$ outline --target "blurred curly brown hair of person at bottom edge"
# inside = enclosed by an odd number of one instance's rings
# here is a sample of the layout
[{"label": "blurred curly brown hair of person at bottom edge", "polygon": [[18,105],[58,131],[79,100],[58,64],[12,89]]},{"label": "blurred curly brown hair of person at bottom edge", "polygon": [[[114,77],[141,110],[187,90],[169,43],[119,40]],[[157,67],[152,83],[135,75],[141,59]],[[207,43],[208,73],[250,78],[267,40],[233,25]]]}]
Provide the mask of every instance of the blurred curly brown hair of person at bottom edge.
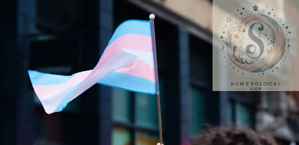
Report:
[{"label": "blurred curly brown hair of person at bottom edge", "polygon": [[271,136],[250,128],[218,126],[195,135],[191,145],[278,145]]}]

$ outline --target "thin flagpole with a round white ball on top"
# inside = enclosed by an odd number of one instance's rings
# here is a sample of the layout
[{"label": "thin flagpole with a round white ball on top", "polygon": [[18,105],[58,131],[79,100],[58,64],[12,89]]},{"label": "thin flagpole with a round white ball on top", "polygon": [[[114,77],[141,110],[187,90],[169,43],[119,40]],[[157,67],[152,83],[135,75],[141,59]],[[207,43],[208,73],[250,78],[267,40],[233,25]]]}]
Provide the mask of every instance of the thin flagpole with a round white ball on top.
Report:
[{"label": "thin flagpole with a round white ball on top", "polygon": [[154,19],[155,15],[150,14],[149,19],[151,20],[151,33],[152,33],[152,49],[154,56],[154,65],[155,65],[155,78],[156,78],[156,91],[157,91],[157,106],[158,106],[158,120],[159,120],[159,136],[160,144],[163,144],[162,138],[162,121],[161,121],[161,107],[160,107],[160,92],[159,92],[159,81],[158,81],[158,64],[157,64],[157,53],[156,53],[156,39],[155,39],[155,24]]}]

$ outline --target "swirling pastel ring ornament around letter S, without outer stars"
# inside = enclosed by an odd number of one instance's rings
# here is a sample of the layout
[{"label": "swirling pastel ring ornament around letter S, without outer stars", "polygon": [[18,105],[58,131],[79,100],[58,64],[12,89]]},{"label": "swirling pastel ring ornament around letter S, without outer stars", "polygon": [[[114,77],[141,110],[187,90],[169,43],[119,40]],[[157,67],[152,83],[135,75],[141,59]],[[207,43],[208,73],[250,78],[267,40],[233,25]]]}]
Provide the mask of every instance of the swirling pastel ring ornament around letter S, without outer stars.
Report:
[{"label": "swirling pastel ring ornament around letter S, without outer stars", "polygon": [[273,69],[288,45],[283,31],[285,28],[264,14],[251,13],[233,21],[227,25],[226,33],[222,32],[223,39],[220,37],[231,62],[251,73]]}]

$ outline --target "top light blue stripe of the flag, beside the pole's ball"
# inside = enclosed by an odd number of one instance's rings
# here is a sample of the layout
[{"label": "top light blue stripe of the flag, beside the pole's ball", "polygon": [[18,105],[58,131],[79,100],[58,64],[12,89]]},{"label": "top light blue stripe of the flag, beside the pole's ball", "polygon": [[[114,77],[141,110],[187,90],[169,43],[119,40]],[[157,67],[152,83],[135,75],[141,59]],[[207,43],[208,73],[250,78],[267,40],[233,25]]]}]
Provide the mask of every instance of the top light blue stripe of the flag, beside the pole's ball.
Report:
[{"label": "top light blue stripe of the flag, beside the pole's ball", "polygon": [[121,23],[113,33],[107,47],[120,36],[126,34],[140,34],[145,36],[152,36],[150,29],[150,21],[144,20],[127,20]]}]

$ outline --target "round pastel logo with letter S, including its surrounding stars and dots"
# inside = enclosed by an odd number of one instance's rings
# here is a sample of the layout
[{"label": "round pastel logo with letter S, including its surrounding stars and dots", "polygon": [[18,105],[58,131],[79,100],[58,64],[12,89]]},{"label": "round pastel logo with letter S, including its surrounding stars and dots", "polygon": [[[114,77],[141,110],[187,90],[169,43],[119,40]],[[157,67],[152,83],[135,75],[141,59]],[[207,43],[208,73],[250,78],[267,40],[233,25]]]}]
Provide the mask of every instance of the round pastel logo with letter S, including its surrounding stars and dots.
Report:
[{"label": "round pastel logo with letter S, including its surrounding stars and dots", "polygon": [[[219,31],[220,51],[230,68],[244,75],[263,76],[283,65],[292,33],[286,18],[262,5],[242,7],[227,16]],[[222,54],[222,52],[221,52]]]}]

